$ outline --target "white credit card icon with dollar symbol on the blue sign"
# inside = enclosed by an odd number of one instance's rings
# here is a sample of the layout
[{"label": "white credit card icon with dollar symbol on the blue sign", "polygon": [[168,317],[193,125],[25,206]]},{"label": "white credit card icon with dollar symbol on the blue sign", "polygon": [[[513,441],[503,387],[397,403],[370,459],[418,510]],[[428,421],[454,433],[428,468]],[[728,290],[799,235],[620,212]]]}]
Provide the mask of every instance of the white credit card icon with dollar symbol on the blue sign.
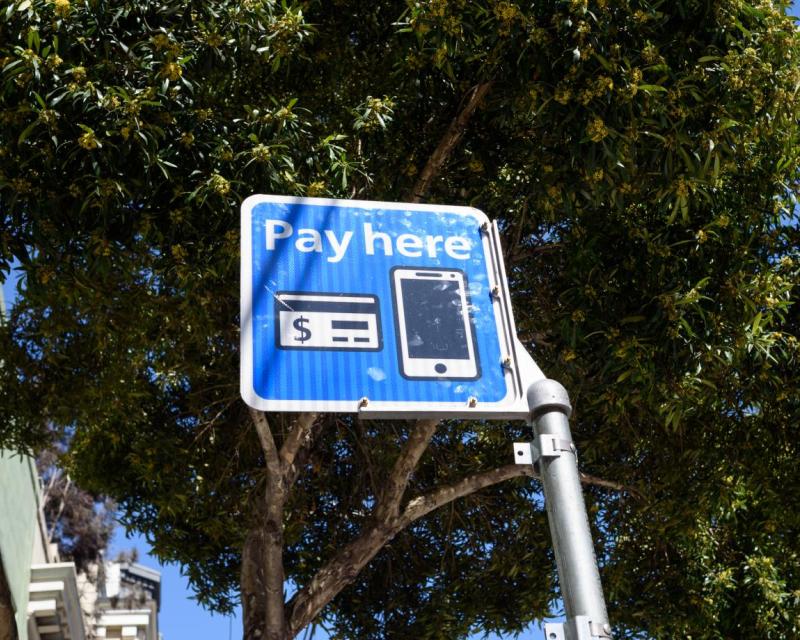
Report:
[{"label": "white credit card icon with dollar symbol on the blue sign", "polygon": [[377,296],[279,291],[275,294],[275,317],[275,344],[279,349],[383,349]]}]

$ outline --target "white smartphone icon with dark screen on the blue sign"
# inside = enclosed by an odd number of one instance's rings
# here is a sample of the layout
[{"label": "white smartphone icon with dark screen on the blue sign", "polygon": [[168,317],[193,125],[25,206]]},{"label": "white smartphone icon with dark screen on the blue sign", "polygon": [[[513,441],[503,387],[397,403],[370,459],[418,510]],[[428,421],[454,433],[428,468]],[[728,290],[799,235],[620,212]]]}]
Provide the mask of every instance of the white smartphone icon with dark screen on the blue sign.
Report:
[{"label": "white smartphone icon with dark screen on the blue sign", "polygon": [[480,377],[464,272],[394,267],[391,279],[400,373],[429,380]]}]

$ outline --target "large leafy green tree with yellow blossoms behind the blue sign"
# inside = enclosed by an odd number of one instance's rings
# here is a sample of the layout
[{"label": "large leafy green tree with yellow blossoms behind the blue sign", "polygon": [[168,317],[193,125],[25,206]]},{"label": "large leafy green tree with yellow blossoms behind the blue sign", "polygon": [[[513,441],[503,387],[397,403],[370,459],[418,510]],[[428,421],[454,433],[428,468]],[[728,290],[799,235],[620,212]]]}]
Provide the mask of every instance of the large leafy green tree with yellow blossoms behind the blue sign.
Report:
[{"label": "large leafy green tree with yellow blossoms behind the blue sign", "polygon": [[241,404],[256,191],[497,218],[523,342],[573,397],[617,636],[797,635],[785,4],[24,0],[0,43],[0,253],[26,274],[0,438],[68,429],[76,478],[201,602],[241,587],[245,637],[515,630],[557,594],[529,481],[411,521],[532,475],[505,466],[523,427]]}]

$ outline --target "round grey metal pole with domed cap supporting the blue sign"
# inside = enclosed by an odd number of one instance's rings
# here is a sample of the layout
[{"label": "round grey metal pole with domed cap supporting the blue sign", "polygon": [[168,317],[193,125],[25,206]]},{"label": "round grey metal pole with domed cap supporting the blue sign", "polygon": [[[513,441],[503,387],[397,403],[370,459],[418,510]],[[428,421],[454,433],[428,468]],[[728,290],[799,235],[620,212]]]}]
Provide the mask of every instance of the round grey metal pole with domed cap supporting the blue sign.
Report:
[{"label": "round grey metal pole with domed cap supporting the blue sign", "polygon": [[547,638],[611,638],[611,626],[583,502],[578,459],[566,389],[555,380],[540,380],[528,389],[547,519],[555,550],[567,622],[545,625]]}]

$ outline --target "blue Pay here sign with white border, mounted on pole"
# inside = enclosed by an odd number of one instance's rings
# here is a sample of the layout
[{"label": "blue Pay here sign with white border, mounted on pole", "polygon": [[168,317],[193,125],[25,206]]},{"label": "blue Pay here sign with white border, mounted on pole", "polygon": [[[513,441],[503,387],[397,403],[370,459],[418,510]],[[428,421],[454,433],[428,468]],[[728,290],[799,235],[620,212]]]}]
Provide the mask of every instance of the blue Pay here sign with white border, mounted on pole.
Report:
[{"label": "blue Pay here sign with white border, mounted on pole", "polygon": [[248,405],[527,414],[497,228],[477,209],[256,195],[241,253]]}]

